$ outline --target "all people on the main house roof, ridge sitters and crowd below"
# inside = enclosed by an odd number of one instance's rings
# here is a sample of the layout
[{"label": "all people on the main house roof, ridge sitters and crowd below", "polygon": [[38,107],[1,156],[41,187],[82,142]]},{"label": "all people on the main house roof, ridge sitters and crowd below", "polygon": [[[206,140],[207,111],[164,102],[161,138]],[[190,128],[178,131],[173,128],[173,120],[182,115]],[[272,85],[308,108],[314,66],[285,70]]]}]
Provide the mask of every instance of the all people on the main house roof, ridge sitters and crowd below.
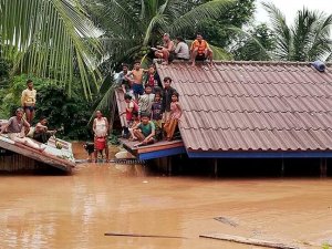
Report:
[{"label": "all people on the main house roof, ridge sitters and crowd below", "polygon": [[[190,48],[186,41],[177,37],[174,42],[168,33],[163,35],[163,45],[152,48],[154,55],[168,64],[174,60],[196,61],[209,60],[212,63],[212,50],[197,34]],[[170,86],[172,79],[164,77],[164,85],[156,72],[155,64],[142,69],[141,62],[135,62],[133,70],[123,64],[122,72],[117,74],[117,85],[124,92],[125,111],[120,115],[126,115],[127,125],[124,127],[124,136],[131,141],[138,141],[136,146],[153,144],[157,139],[172,141],[183,113],[179,104],[178,92]]]}]

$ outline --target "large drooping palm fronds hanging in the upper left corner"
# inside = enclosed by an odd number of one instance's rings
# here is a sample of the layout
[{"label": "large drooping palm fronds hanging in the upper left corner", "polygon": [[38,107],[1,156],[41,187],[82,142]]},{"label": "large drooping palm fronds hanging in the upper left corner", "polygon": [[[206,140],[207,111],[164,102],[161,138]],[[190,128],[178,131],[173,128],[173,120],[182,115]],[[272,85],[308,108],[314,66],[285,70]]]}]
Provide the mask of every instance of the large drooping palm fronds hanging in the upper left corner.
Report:
[{"label": "large drooping palm fronds hanging in the upper left corner", "polygon": [[93,23],[75,0],[0,0],[0,56],[13,71],[66,84],[81,77],[85,96],[97,87],[95,61],[102,50]]}]

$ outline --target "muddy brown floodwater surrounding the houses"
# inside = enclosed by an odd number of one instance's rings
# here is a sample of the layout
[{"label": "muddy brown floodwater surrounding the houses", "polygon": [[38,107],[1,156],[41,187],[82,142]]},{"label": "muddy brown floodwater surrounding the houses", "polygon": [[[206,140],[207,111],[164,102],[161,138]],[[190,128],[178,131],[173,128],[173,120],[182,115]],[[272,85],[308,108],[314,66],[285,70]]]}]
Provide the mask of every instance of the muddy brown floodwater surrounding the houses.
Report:
[{"label": "muddy brown floodwater surrounding the houses", "polygon": [[209,232],[320,248],[332,243],[331,190],[331,179],[165,177],[139,165],[0,176],[0,248],[260,248],[198,237]]}]

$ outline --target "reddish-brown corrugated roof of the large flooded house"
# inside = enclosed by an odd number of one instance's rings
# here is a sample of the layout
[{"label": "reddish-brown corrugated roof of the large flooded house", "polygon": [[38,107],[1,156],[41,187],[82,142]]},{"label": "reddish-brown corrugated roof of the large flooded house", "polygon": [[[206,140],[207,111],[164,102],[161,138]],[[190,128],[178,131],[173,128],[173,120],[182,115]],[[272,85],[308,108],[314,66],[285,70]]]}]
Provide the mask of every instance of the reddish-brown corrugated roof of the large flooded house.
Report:
[{"label": "reddish-brown corrugated roof of the large flooded house", "polygon": [[332,66],[310,63],[157,64],[180,95],[188,151],[331,151]]}]

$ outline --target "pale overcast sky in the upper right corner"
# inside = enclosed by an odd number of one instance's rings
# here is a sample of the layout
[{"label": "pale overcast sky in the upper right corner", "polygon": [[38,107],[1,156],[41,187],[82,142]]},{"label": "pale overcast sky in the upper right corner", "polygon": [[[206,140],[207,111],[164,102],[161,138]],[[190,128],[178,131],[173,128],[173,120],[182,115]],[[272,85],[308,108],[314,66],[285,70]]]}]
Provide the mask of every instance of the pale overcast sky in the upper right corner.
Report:
[{"label": "pale overcast sky in the upper right corner", "polygon": [[324,11],[326,14],[332,13],[332,0],[257,0],[256,20],[258,22],[269,21],[261,2],[272,2],[286,15],[288,24],[293,23],[297,11],[303,9],[303,6],[309,10]]}]

